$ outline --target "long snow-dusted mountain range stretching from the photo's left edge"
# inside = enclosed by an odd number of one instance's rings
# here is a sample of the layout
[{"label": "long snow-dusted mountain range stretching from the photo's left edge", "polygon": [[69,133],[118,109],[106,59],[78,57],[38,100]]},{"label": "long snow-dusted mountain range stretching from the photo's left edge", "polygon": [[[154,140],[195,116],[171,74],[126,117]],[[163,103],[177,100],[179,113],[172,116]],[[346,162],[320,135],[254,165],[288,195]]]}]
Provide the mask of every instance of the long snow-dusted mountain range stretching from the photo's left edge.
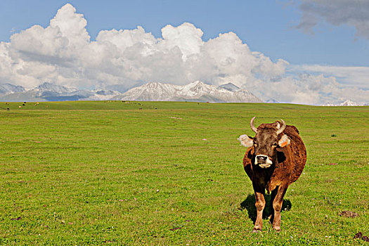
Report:
[{"label": "long snow-dusted mountain range stretching from the photo's left edge", "polygon": [[112,90],[79,90],[45,82],[32,89],[12,84],[0,85],[0,101],[196,101],[212,103],[261,103],[249,91],[232,83],[213,86],[197,81],[184,86],[148,83],[129,89],[125,93]]}]

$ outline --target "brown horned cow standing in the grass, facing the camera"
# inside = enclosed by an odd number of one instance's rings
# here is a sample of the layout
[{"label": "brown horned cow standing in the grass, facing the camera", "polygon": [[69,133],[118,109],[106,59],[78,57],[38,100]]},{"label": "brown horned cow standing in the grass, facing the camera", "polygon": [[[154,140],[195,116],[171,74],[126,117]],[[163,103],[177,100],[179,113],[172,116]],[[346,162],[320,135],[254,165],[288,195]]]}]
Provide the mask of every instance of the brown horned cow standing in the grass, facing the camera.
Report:
[{"label": "brown horned cow standing in the grass, facing the camera", "polygon": [[[286,125],[283,119],[271,124],[254,127],[253,117],[250,127],[254,138],[241,135],[238,140],[247,147],[243,167],[252,181],[255,193],[257,219],[253,233],[261,231],[262,215],[266,205],[265,190],[271,194],[271,223],[280,231],[280,210],[288,186],[302,174],[306,163],[306,148],[296,127]],[[272,207],[272,206],[271,206]]]}]

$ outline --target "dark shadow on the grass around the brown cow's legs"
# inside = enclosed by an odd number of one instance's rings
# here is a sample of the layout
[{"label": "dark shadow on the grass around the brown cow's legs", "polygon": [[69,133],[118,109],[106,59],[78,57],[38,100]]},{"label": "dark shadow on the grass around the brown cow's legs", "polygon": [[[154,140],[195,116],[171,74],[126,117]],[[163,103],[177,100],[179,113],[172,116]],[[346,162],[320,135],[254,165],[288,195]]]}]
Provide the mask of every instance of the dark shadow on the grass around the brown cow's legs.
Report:
[{"label": "dark shadow on the grass around the brown cow's legs", "polygon": [[[264,198],[266,205],[263,211],[263,219],[266,219],[272,215],[273,206],[271,203],[271,195],[264,195]],[[242,210],[247,209],[247,212],[249,213],[249,218],[255,223],[255,221],[257,220],[257,207],[255,207],[255,195],[254,194],[247,195],[246,200],[241,202],[240,206]],[[290,202],[290,200],[283,199],[281,212],[289,211],[291,207],[292,203]]]}]

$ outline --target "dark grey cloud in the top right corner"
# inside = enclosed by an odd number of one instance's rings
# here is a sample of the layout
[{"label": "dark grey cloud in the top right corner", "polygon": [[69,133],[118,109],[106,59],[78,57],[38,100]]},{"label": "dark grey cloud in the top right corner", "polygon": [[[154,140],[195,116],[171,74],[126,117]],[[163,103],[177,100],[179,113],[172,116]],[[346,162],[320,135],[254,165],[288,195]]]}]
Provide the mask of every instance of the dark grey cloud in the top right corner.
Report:
[{"label": "dark grey cloud in the top right corner", "polygon": [[302,18],[297,28],[313,32],[318,22],[355,27],[356,36],[369,39],[369,1],[367,0],[302,0]]}]

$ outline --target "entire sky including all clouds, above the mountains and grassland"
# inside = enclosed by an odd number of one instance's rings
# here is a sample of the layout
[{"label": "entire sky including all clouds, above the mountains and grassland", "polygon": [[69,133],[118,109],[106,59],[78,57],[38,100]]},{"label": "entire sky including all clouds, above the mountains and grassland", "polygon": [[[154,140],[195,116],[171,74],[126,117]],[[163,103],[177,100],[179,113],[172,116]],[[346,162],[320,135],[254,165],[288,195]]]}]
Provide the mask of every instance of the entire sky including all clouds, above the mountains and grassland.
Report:
[{"label": "entire sky including all clouds, above the mountains and grassland", "polygon": [[369,103],[369,1],[0,2],[0,84],[232,82],[264,101]]}]

